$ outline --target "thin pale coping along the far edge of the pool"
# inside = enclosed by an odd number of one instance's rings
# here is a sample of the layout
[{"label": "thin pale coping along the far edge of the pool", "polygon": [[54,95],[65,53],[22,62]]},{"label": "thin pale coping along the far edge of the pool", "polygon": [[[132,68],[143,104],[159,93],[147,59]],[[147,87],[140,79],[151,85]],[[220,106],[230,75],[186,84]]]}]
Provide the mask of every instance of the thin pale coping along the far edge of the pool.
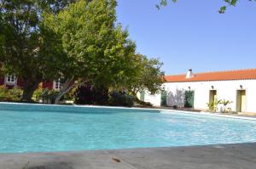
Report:
[{"label": "thin pale coping along the far edge of the pool", "polygon": [[102,105],[79,105],[79,104],[71,104],[71,105],[65,105],[65,104],[26,104],[26,103],[12,103],[12,102],[0,102],[1,104],[25,104],[25,105],[44,105],[49,107],[81,107],[81,108],[102,108],[102,109],[127,109],[127,110],[158,110],[158,111],[165,111],[166,114],[176,112],[176,113],[183,113],[183,114],[191,114],[191,115],[210,115],[210,116],[217,116],[217,117],[224,117],[224,118],[233,118],[233,119],[241,119],[241,120],[250,120],[250,121],[256,121],[255,117],[247,117],[247,116],[238,116],[238,115],[223,115],[219,113],[209,113],[206,111],[200,111],[200,112],[192,112],[192,111],[186,111],[186,110],[166,110],[166,109],[158,109],[158,108],[137,108],[137,107],[122,107],[122,106],[102,106]]}]

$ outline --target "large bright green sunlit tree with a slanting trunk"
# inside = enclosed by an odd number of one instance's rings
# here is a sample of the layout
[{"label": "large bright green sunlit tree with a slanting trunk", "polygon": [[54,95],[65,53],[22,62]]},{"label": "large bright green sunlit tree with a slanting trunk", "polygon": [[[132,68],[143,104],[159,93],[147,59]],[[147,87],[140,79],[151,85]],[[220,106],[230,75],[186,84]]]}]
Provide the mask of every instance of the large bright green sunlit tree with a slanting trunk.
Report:
[{"label": "large bright green sunlit tree with a slanting trunk", "polygon": [[115,0],[79,0],[57,16],[44,14],[46,25],[61,35],[67,63],[60,69],[63,85],[55,103],[86,82],[121,87],[136,75],[135,43],[116,24]]}]

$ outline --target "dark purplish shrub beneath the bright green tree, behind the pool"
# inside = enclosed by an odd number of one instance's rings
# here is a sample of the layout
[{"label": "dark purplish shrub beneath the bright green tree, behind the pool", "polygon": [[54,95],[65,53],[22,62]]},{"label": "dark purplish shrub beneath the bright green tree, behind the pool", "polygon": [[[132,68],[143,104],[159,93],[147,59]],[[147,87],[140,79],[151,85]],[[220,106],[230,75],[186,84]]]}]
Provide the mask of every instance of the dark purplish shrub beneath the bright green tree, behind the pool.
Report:
[{"label": "dark purplish shrub beneath the bright green tree, behind the pool", "polygon": [[90,84],[85,84],[77,88],[74,96],[75,104],[108,104],[107,87],[93,87]]}]

